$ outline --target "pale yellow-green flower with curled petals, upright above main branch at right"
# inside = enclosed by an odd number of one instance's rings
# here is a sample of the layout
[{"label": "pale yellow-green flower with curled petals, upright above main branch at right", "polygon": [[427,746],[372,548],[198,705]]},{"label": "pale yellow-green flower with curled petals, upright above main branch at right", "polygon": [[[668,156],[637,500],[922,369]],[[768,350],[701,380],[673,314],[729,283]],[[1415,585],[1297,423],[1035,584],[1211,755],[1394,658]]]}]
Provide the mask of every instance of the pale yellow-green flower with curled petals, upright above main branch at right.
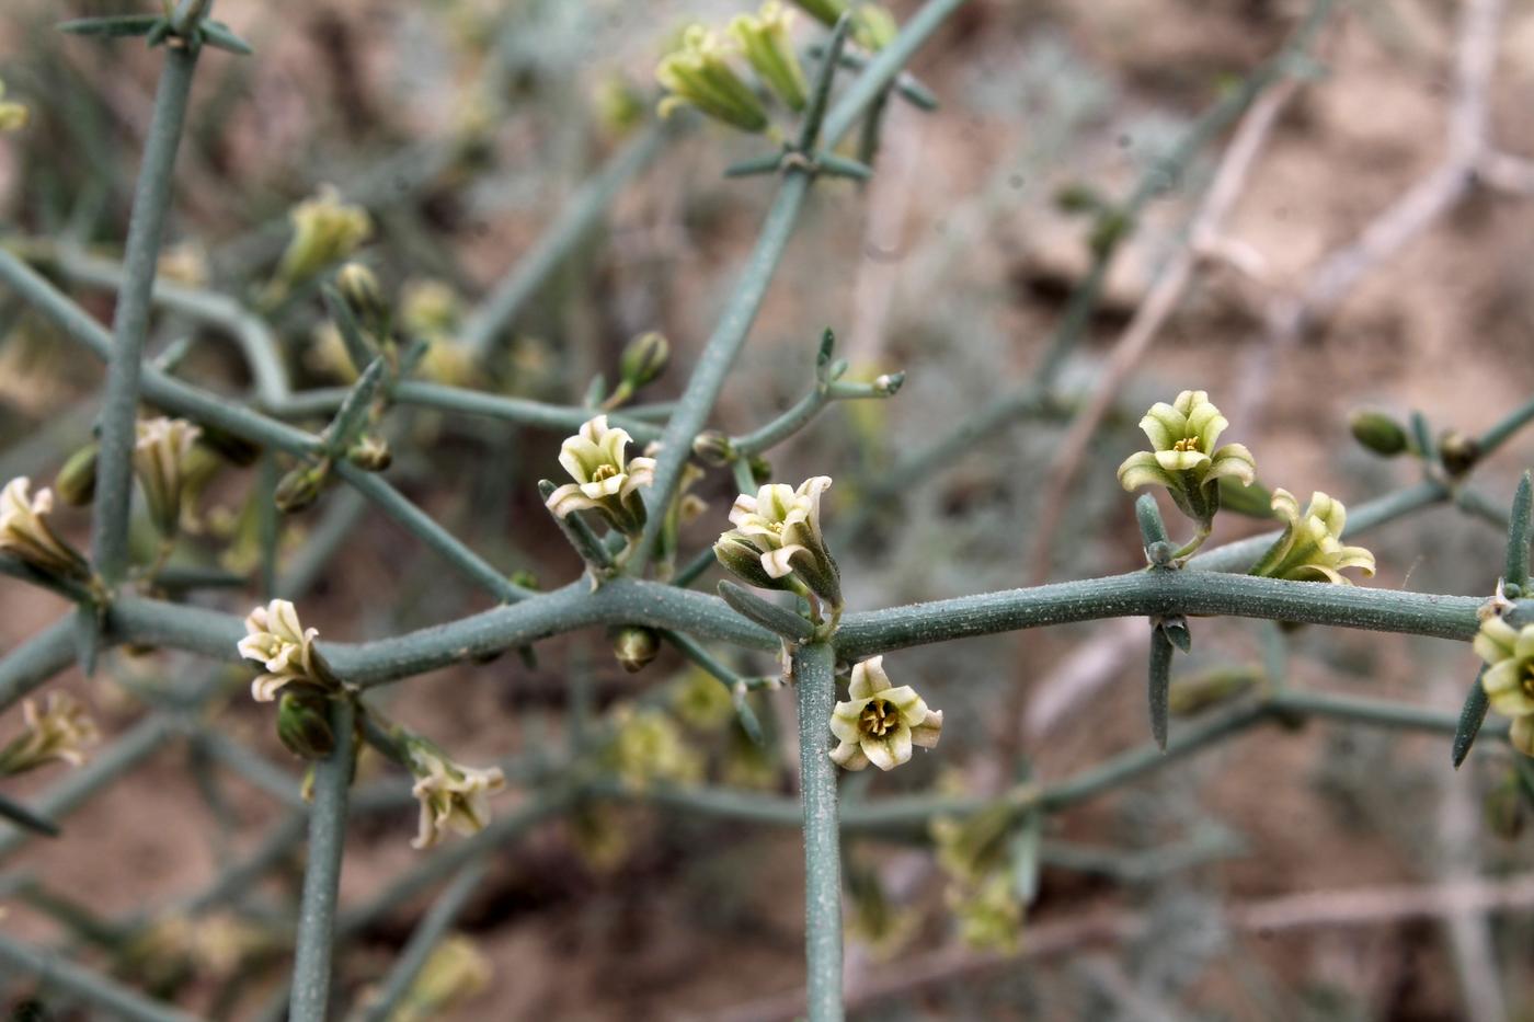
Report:
[{"label": "pale yellow-green flower with curled petals, upright above main branch at right", "polygon": [[1126,457],[1118,483],[1124,490],[1166,486],[1186,516],[1207,523],[1220,509],[1221,477],[1247,486],[1256,480],[1252,451],[1241,443],[1215,447],[1229,425],[1203,390],[1184,390],[1170,405],[1155,404],[1140,420],[1152,450]]}]

